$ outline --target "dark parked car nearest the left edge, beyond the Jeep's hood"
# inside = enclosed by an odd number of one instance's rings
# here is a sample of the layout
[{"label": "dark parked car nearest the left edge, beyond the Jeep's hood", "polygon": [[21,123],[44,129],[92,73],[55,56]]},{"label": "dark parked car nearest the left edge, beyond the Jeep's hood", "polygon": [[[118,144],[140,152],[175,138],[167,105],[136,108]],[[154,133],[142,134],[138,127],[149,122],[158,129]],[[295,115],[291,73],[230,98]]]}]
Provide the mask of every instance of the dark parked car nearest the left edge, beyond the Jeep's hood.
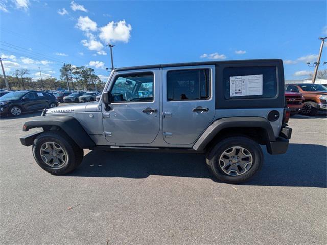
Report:
[{"label": "dark parked car nearest the left edge, beyond the Jeep's hood", "polygon": [[38,91],[10,92],[0,97],[0,115],[19,116],[22,112],[58,106],[56,97]]}]

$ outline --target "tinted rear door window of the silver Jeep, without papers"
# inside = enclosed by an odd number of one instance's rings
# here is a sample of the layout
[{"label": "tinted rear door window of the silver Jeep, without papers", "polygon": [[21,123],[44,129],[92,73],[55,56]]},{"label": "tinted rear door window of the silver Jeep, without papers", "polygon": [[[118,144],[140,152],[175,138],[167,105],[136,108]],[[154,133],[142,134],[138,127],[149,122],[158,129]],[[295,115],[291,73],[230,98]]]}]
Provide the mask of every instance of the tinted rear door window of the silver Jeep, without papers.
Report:
[{"label": "tinted rear door window of the silver Jeep, without papers", "polygon": [[167,100],[208,99],[209,69],[172,70],[167,72]]}]

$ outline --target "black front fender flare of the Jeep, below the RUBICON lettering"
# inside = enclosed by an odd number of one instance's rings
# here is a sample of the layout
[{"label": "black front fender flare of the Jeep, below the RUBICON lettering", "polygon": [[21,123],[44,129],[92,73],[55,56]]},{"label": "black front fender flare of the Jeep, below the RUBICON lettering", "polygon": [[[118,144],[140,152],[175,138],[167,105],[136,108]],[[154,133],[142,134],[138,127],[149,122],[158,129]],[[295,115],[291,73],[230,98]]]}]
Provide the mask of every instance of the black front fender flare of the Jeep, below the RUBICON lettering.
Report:
[{"label": "black front fender flare of the Jeep, below the RUBICON lettering", "polygon": [[79,121],[72,116],[38,116],[34,120],[25,122],[22,131],[51,126],[56,126],[65,131],[82,149],[91,148],[96,145]]}]

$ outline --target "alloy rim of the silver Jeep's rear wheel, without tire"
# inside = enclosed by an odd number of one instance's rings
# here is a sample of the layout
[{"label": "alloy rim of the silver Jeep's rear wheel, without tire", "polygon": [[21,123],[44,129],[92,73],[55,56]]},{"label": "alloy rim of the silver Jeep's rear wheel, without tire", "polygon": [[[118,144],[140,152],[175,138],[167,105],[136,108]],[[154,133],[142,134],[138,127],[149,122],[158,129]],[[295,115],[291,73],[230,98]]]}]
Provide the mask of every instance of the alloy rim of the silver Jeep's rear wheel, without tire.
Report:
[{"label": "alloy rim of the silver Jeep's rear wheel, without tire", "polygon": [[226,149],[219,158],[219,167],[230,176],[245,174],[251,168],[252,163],[252,154],[241,146]]}]

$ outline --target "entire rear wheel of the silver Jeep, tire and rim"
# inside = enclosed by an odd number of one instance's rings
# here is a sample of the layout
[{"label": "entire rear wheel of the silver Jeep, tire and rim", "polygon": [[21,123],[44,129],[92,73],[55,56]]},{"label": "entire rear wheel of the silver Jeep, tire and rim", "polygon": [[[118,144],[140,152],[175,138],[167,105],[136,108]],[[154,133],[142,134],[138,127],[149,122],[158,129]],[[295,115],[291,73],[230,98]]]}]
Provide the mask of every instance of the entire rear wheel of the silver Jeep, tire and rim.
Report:
[{"label": "entire rear wheel of the silver Jeep, tire and rim", "polygon": [[263,152],[258,143],[245,136],[229,137],[218,142],[206,156],[206,163],[217,179],[242,183],[262,167]]}]

